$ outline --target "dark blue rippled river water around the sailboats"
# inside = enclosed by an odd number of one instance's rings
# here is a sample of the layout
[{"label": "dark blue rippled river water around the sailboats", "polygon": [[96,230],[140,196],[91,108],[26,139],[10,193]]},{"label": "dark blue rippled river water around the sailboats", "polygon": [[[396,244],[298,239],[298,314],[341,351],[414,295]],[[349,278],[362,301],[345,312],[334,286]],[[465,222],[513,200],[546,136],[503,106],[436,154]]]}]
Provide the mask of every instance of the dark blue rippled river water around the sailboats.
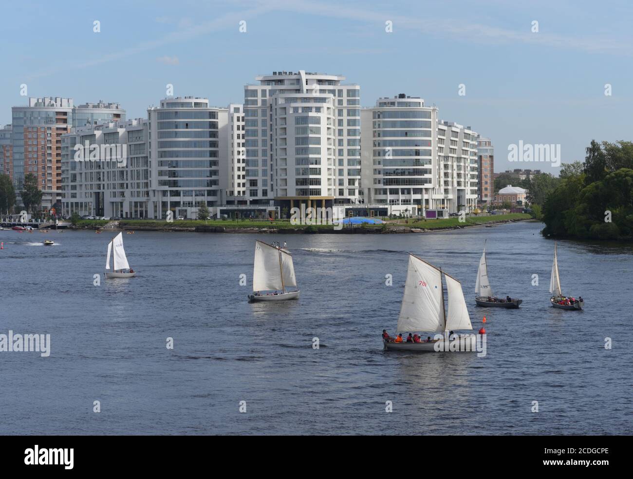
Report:
[{"label": "dark blue rippled river water around the sailboats", "polygon": [[[114,281],[112,233],[0,231],[0,334],[51,335],[49,357],[0,353],[0,434],[631,434],[633,247],[559,241],[563,293],[585,309],[553,309],[541,227],[137,232],[123,239],[138,276]],[[298,301],[247,302],[256,238],[288,242]],[[491,286],[518,310],[474,305],[484,239]],[[460,279],[473,328],[487,317],[485,357],[382,350],[407,252]]]}]

